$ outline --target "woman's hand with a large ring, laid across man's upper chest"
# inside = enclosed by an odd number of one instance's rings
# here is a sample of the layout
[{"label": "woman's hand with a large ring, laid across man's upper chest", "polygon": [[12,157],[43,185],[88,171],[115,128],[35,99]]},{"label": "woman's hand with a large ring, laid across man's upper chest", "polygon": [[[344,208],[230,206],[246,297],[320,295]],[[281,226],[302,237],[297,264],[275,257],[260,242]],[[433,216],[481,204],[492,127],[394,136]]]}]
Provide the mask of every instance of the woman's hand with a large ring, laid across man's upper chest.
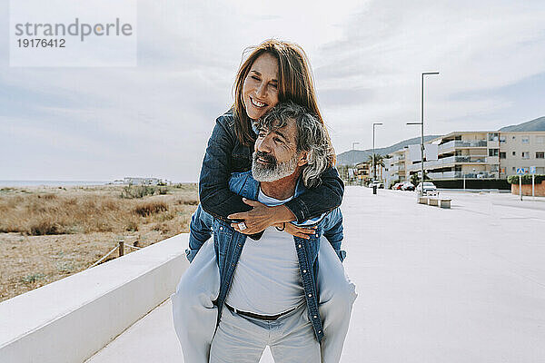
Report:
[{"label": "woman's hand with a large ring, laid across man's upper chest", "polygon": [[[243,202],[253,207],[252,211],[244,211],[228,215],[230,220],[243,220],[246,225],[245,230],[241,230],[238,223],[231,223],[235,231],[244,234],[255,234],[264,231],[267,227],[287,221],[295,221],[292,211],[283,205],[268,207],[259,201],[250,201],[243,198]],[[287,225],[287,223],[286,223]]]}]

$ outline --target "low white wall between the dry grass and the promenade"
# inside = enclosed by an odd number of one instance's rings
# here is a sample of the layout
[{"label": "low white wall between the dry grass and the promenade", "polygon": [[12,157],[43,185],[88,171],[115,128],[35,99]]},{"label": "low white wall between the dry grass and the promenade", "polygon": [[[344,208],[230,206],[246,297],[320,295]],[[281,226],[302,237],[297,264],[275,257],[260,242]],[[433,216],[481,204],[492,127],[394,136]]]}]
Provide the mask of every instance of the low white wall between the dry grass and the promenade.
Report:
[{"label": "low white wall between the dry grass and the promenade", "polygon": [[83,362],[174,292],[188,234],[0,303],[0,362]]}]

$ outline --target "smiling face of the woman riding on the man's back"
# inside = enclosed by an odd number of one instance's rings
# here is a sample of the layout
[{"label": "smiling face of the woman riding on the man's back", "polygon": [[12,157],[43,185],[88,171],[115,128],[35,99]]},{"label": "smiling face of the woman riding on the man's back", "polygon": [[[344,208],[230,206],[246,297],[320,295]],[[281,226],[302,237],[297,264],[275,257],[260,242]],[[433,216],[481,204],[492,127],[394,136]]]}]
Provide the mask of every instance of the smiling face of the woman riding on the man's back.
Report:
[{"label": "smiling face of the woman riding on the man's back", "polygon": [[243,84],[248,117],[257,120],[278,103],[278,61],[263,53],[253,62]]}]

